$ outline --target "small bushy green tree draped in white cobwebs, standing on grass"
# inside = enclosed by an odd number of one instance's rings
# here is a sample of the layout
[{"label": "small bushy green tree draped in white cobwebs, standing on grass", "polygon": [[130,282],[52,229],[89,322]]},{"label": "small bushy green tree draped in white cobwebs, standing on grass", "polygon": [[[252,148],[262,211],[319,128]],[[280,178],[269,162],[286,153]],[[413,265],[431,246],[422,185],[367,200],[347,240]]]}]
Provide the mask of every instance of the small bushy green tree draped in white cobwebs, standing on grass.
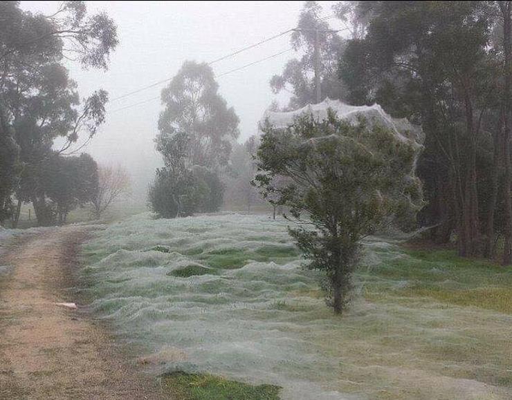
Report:
[{"label": "small bushy green tree draped in white cobwebs, standing on grass", "polygon": [[[414,175],[421,146],[363,118],[338,120],[331,111],[322,122],[304,115],[286,129],[267,124],[263,131],[255,184],[289,207],[298,223],[289,232],[309,267],[327,273],[327,301],[340,313],[361,240],[422,203]],[[280,185],[273,184],[277,177],[284,178]]]}]

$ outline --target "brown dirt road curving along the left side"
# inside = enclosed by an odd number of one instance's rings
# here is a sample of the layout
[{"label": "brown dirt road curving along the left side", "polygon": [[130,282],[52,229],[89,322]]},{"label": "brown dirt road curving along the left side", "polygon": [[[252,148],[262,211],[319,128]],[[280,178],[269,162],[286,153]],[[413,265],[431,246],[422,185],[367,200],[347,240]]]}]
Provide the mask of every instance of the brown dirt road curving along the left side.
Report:
[{"label": "brown dirt road curving along the left side", "polygon": [[129,361],[75,302],[71,272],[86,227],[17,238],[0,254],[0,399],[161,399],[155,379]]}]

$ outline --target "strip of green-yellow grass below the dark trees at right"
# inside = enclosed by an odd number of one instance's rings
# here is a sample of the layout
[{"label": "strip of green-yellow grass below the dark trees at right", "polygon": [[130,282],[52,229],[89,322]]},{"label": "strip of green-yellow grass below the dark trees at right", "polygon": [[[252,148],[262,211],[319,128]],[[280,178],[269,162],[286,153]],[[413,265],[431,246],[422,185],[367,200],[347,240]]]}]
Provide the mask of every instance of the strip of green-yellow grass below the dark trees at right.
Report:
[{"label": "strip of green-yellow grass below the dark trees at right", "polygon": [[[461,258],[452,250],[405,250],[402,257],[384,258],[367,278],[365,297],[371,301],[426,298],[512,314],[512,267]],[[405,287],[390,285],[396,281]]]}]

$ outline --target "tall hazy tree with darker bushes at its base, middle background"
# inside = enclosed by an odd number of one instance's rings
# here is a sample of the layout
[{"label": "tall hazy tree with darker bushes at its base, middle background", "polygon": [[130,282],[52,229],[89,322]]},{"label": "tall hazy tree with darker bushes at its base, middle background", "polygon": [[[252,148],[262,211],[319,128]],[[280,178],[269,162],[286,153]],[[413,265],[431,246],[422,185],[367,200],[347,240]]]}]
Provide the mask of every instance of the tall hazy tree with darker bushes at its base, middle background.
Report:
[{"label": "tall hazy tree with darker bushes at its base, middle background", "polygon": [[222,204],[219,173],[239,135],[239,120],[218,88],[207,64],[186,61],[162,91],[156,149],[165,167],[149,188],[149,203],[160,216],[218,211]]}]

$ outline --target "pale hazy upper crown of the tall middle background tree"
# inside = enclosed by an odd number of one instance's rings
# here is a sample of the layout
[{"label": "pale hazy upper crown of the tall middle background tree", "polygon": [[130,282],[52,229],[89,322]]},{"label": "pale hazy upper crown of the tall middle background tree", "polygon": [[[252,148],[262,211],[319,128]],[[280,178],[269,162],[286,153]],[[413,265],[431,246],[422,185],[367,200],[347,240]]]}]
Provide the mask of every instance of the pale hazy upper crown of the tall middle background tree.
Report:
[{"label": "pale hazy upper crown of the tall middle background tree", "polygon": [[164,110],[158,120],[156,149],[165,162],[172,163],[174,149],[179,146],[179,158],[183,157],[188,166],[216,169],[226,164],[230,141],[239,135],[239,119],[218,90],[212,68],[194,61],[185,61],[163,89]]}]

